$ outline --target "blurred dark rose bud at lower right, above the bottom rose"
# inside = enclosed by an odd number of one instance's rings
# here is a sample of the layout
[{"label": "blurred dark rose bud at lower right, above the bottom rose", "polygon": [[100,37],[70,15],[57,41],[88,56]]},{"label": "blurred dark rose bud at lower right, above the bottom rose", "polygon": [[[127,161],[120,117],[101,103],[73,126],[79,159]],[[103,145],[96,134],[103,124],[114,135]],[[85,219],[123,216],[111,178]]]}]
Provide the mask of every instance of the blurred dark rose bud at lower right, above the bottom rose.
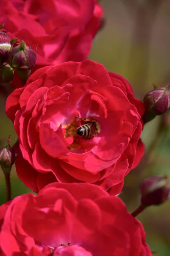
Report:
[{"label": "blurred dark rose bud at lower right, above the bottom rose", "polygon": [[170,185],[166,176],[154,175],[141,184],[141,203],[144,206],[159,205],[167,200]]}]

